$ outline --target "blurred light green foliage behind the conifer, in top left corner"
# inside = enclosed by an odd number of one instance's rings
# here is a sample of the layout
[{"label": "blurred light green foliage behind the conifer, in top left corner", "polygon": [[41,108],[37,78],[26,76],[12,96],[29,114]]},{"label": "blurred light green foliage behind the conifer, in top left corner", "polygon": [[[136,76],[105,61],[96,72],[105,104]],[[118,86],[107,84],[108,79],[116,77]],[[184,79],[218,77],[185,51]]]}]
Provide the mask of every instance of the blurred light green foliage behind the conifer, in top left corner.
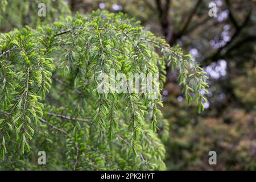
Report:
[{"label": "blurred light green foliage behind the conifer, in top left corner", "polygon": [[[46,16],[39,17],[38,5],[42,2],[46,5]],[[65,1],[57,0],[1,0],[0,11],[0,32],[22,28],[25,25],[35,27],[51,23],[71,13]]]}]

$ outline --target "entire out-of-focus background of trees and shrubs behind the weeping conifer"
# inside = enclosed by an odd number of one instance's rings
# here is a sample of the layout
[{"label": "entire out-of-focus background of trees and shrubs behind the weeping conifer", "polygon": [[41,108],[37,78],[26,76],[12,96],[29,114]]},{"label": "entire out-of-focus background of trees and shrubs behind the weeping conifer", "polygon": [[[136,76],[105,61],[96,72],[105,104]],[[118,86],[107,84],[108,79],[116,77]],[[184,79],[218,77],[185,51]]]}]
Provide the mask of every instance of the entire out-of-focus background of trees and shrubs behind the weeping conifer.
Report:
[{"label": "entire out-of-focus background of trees and shrubs behind the weeping conifer", "polygon": [[[47,7],[39,18],[40,2]],[[179,44],[208,73],[208,102],[199,115],[196,106],[187,106],[176,73],[167,68],[162,92],[162,111],[170,123],[164,143],[167,169],[256,170],[256,1],[1,0],[0,32],[97,9],[140,20],[170,46]],[[217,16],[210,16],[210,10]],[[208,163],[212,150],[217,165]]]}]

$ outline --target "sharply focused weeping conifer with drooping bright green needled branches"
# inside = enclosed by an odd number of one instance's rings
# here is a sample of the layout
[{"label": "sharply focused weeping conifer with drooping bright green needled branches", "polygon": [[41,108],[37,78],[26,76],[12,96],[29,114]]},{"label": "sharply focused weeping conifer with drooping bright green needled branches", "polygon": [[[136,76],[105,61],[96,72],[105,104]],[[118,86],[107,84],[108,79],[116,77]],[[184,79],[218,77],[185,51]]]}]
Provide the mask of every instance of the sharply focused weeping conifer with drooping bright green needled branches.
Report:
[{"label": "sharply focused weeping conifer with drooping bright green needled branches", "polygon": [[[2,34],[0,42],[0,169],[165,169],[166,63],[177,69],[188,104],[203,110],[205,72],[123,14],[77,15]],[[99,94],[97,75],[110,69],[159,73],[158,98]],[[42,150],[46,166],[37,163]]]}]

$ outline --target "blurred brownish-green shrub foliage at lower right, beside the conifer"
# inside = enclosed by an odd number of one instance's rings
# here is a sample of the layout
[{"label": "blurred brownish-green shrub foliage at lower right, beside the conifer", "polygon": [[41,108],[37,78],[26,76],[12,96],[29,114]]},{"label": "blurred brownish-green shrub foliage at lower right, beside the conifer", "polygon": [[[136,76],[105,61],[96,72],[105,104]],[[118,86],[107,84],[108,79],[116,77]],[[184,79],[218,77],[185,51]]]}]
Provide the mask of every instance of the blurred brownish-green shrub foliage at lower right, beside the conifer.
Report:
[{"label": "blurred brownish-green shrub foliage at lower right, beside the conifer", "polygon": [[[175,96],[179,89],[170,90]],[[168,97],[166,102],[163,113],[170,121],[170,138],[166,142],[168,169],[256,169],[255,110],[232,106],[224,108],[219,117],[210,111],[198,116],[176,97]],[[208,164],[211,150],[217,152],[216,166]]]}]

